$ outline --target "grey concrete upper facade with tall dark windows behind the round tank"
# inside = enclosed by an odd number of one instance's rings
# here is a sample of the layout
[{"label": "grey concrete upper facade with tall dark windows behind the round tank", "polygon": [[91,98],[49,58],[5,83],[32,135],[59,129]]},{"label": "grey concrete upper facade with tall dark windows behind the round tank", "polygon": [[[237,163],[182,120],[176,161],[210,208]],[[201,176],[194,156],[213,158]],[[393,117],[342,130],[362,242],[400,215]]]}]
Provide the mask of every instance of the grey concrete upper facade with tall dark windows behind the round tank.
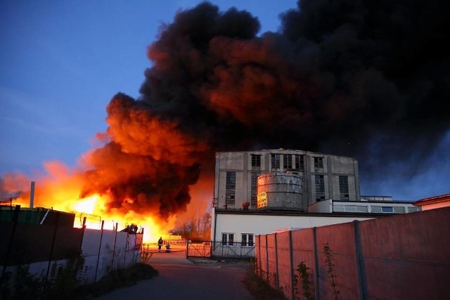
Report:
[{"label": "grey concrete upper facade with tall dark windows behind the round tank", "polygon": [[217,152],[213,206],[257,209],[262,174],[291,173],[302,178],[304,206],[327,199],[359,201],[358,161],[354,157],[303,150]]}]

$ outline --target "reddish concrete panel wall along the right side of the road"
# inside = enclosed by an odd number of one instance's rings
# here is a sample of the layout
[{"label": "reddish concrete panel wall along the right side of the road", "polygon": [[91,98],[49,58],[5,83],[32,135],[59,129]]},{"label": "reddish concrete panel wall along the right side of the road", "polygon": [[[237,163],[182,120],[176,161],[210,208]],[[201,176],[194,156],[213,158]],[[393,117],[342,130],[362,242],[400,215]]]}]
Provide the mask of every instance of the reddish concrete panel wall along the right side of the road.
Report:
[{"label": "reddish concrete panel wall along the right side of the road", "polygon": [[325,244],[340,299],[450,299],[449,236],[450,208],[442,208],[259,235],[255,249],[259,275],[289,299],[302,299],[293,280],[301,262],[315,299],[334,299]]}]

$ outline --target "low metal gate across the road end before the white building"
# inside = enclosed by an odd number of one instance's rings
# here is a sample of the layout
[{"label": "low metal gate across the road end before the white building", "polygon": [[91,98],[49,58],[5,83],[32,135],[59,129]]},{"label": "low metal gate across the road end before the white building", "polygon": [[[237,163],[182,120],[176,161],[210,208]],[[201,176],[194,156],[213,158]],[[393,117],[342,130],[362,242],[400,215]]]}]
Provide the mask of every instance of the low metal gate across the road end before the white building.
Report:
[{"label": "low metal gate across the road end before the white building", "polygon": [[255,244],[249,242],[188,240],[186,244],[186,259],[250,259],[252,257],[255,257]]}]

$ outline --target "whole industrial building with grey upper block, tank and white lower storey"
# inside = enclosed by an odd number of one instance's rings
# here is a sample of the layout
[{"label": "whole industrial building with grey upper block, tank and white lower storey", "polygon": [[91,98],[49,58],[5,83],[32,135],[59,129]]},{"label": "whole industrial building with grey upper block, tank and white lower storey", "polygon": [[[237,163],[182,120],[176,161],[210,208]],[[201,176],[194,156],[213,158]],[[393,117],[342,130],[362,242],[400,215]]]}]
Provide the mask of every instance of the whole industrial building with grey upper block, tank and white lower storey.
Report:
[{"label": "whole industrial building with grey upper block, tank and white lower storey", "polygon": [[211,237],[231,252],[252,255],[245,247],[256,235],[414,211],[413,202],[361,196],[353,157],[285,149],[216,154]]}]

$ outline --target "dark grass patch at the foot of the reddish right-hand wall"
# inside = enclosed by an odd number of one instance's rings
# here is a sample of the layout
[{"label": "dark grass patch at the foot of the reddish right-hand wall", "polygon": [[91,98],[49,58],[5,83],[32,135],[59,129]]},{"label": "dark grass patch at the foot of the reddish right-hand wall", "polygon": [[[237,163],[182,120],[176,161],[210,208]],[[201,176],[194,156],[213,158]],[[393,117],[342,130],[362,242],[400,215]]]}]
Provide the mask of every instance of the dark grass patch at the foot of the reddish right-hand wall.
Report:
[{"label": "dark grass patch at the foot of the reddish right-hand wall", "polygon": [[255,299],[260,300],[285,300],[283,292],[271,287],[269,283],[265,282],[255,272],[255,263],[250,263],[250,267],[245,273],[243,280],[245,287],[250,291],[250,294]]}]

